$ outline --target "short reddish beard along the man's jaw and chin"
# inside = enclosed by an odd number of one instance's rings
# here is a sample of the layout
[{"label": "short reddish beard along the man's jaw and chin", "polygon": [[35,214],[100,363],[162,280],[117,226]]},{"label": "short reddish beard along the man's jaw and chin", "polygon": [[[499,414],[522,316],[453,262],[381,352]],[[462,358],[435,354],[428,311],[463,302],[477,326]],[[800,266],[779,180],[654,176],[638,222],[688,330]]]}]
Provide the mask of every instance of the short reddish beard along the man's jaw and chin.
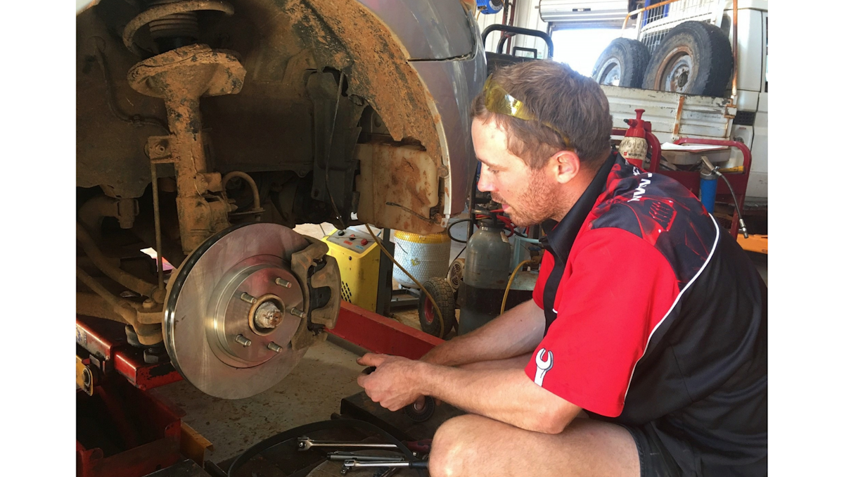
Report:
[{"label": "short reddish beard along the man's jaw and chin", "polygon": [[565,215],[571,207],[566,205],[568,201],[561,192],[540,171],[534,171],[527,181],[527,187],[511,201],[506,201],[495,193],[491,195],[495,202],[510,206],[507,214],[513,224],[524,227],[541,224],[561,211]]}]

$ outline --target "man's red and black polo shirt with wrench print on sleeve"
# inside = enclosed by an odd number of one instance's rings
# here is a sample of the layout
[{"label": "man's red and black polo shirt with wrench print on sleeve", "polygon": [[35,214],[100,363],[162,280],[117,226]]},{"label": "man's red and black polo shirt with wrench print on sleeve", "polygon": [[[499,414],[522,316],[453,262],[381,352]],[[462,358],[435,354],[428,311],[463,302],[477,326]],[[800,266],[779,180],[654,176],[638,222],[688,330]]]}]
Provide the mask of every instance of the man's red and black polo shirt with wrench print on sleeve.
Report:
[{"label": "man's red and black polo shirt with wrench print on sleeve", "polygon": [[615,152],[544,227],[546,334],[527,376],[593,417],[653,426],[690,474],[766,474],[767,288],[733,237]]}]

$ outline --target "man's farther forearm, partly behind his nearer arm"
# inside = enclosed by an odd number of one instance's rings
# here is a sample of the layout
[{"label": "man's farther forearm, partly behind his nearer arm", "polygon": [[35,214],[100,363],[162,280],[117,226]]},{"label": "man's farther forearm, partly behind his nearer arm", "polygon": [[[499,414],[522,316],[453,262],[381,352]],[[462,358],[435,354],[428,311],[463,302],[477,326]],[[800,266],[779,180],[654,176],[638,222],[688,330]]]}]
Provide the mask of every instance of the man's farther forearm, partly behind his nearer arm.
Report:
[{"label": "man's farther forearm, partly behind his nearer arm", "polygon": [[544,327],[542,309],[533,300],[526,301],[472,333],[440,344],[422,360],[441,366],[460,366],[523,355],[536,349]]}]

